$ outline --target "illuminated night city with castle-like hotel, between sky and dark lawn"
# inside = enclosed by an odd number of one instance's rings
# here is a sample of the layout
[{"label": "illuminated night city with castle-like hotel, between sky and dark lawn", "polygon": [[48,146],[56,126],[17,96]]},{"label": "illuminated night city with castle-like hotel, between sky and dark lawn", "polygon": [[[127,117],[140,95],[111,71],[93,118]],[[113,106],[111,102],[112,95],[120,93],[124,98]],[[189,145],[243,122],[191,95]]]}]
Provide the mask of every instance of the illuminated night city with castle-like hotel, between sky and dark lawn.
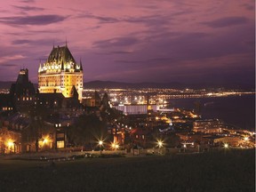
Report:
[{"label": "illuminated night city with castle-like hotel, between sky and dark lawn", "polygon": [[[173,108],[168,100],[255,94],[239,89],[84,88],[83,65],[68,45],[53,47],[38,66],[38,88],[28,68],[0,94],[0,153],[116,151],[198,153],[255,148],[255,132],[204,119],[202,103]],[[160,150],[161,148],[161,150]]]}]

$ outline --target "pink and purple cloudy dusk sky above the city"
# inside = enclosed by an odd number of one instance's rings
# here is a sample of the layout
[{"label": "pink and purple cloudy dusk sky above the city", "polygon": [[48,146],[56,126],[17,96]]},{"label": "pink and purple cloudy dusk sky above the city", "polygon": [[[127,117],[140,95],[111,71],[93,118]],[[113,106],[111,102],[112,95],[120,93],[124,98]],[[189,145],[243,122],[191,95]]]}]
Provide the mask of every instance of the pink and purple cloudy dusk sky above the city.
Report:
[{"label": "pink and purple cloudy dusk sky above the city", "polygon": [[252,0],[8,0],[0,5],[0,81],[65,45],[84,82],[246,84],[255,76]]}]

